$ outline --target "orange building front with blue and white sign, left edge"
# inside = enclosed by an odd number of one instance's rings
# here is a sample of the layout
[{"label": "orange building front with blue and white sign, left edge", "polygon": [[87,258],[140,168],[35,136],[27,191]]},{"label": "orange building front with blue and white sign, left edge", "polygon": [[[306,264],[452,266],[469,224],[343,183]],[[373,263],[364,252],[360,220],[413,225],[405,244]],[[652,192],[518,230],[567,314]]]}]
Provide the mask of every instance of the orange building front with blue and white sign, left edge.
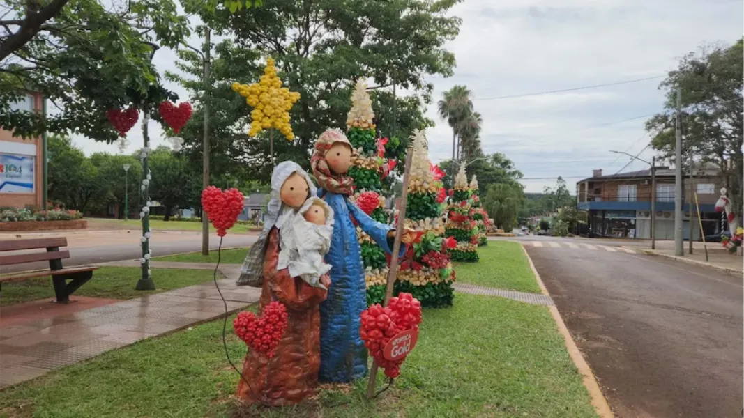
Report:
[{"label": "orange building front with blue and white sign, left edge", "polygon": [[[30,92],[11,109],[43,112],[43,97]],[[43,208],[44,139],[13,137],[0,129],[0,208]]]}]

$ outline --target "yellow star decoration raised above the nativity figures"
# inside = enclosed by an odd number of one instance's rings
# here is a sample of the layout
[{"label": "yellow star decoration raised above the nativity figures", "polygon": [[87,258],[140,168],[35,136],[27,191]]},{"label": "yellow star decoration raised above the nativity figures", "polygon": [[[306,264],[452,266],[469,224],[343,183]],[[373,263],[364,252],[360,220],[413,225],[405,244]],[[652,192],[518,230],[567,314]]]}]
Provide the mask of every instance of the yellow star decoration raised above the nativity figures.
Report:
[{"label": "yellow star decoration raised above the nativity figures", "polygon": [[258,83],[251,85],[233,83],[232,88],[241,96],[246,97],[246,103],[251,106],[251,129],[248,136],[256,136],[263,129],[278,129],[287,139],[295,139],[292,126],[289,125],[289,110],[300,100],[297,91],[282,88],[281,80],[277,77],[274,60],[266,60],[266,68]]}]

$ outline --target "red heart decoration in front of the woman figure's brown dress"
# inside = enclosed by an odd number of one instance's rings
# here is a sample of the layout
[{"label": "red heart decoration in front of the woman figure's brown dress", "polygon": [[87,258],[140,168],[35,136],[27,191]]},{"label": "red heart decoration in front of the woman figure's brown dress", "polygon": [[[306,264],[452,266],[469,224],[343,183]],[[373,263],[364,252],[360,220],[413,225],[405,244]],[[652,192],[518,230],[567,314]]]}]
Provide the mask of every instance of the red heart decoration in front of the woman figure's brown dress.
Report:
[{"label": "red heart decoration in front of the woman figure's brown dress", "polygon": [[288,319],[286,307],[275,300],[264,306],[259,317],[253,312],[240,312],[233,321],[233,328],[235,335],[248,347],[272,358],[274,350],[286,331]]}]

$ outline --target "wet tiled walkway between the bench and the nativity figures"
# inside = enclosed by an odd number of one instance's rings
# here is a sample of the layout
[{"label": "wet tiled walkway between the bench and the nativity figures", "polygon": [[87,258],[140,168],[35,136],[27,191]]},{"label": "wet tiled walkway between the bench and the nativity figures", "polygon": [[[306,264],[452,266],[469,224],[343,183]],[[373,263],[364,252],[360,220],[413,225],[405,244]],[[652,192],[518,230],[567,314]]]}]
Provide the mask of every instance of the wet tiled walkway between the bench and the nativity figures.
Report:
[{"label": "wet tiled walkway between the bench and the nativity figures", "polygon": [[[158,262],[153,267],[164,268],[164,264],[192,268],[190,263]],[[202,268],[214,269],[214,265]],[[235,286],[239,268],[226,265],[219,269],[223,278],[217,282],[229,312],[255,303],[260,296],[260,289]],[[1,328],[0,388],[145,338],[211,321],[224,313],[225,305],[214,283],[208,282]]]}]

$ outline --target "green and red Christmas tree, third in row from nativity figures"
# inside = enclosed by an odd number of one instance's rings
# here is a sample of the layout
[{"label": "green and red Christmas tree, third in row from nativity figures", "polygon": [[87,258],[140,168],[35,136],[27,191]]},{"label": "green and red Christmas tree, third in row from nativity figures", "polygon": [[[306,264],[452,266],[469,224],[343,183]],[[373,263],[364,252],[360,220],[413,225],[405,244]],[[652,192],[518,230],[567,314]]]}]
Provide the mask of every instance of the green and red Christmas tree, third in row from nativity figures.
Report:
[{"label": "green and red Christmas tree, third in row from nativity figures", "polygon": [[455,187],[449,190],[449,208],[445,234],[458,243],[450,251],[452,261],[478,261],[478,224],[470,212],[470,187],[467,184],[465,165],[460,165],[455,176]]}]

